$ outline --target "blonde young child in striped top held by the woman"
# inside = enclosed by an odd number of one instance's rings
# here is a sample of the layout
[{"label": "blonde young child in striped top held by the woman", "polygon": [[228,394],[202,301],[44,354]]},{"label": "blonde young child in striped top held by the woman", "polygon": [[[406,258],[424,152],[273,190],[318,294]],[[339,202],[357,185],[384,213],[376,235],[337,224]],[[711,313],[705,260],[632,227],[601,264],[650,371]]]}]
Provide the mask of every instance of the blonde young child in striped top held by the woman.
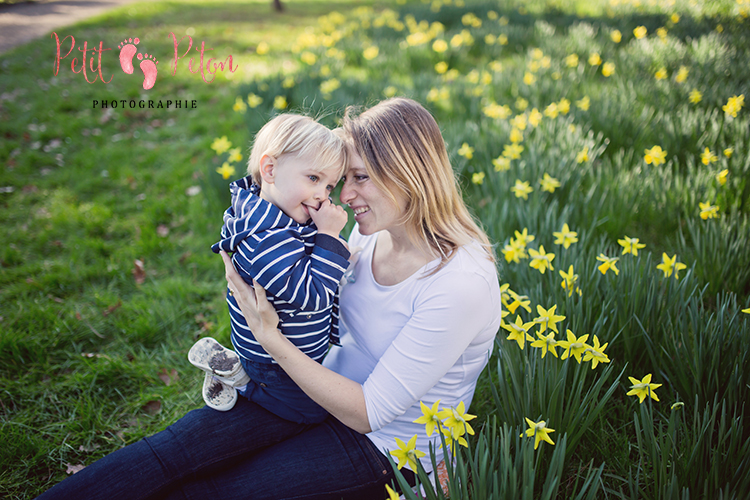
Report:
[{"label": "blonde young child in striped top held by the woman", "polygon": [[[269,121],[255,137],[248,177],[230,185],[221,241],[211,247],[230,253],[245,281],[266,289],[281,332],[319,362],[329,343],[338,344],[338,285],[349,258],[339,233],[347,215],[329,196],[346,161],[344,141],[313,119]],[[287,420],[323,421],[327,412],[255,340],[231,290],[227,303],[235,350],[207,337],[188,354],[206,372],[206,404],[227,411],[239,392]]]}]

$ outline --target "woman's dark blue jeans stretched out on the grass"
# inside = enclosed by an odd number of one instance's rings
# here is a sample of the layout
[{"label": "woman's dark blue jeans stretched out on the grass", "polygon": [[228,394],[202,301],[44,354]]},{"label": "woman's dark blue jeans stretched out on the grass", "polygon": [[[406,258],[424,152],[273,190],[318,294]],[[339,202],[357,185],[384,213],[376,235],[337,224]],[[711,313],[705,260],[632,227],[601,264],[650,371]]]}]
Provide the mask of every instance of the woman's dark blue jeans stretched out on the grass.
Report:
[{"label": "woman's dark blue jeans stretched out on the grass", "polygon": [[334,417],[297,424],[239,398],[228,412],[189,412],[39,499],[383,500],[391,482],[385,455]]}]

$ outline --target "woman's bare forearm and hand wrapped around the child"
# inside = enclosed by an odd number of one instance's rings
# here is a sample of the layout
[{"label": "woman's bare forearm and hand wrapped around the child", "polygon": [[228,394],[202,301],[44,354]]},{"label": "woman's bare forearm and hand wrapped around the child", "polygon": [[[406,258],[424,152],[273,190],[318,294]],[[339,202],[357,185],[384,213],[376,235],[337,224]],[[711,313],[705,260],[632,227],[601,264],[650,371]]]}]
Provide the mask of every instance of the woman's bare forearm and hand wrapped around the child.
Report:
[{"label": "woman's bare forearm and hand wrapped around the child", "polygon": [[346,426],[362,434],[370,432],[362,386],[329,370],[303,354],[277,328],[279,317],[257,282],[250,287],[234,269],[226,252],[227,283],[255,338],[284,371],[316,403]]}]

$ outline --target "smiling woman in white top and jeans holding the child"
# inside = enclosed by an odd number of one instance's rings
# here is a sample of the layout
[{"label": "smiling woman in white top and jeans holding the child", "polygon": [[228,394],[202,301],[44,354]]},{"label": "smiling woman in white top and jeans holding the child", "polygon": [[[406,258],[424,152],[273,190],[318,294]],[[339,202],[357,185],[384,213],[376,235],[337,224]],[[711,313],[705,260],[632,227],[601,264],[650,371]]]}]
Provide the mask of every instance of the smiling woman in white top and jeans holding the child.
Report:
[{"label": "smiling woman in white top and jeans holding the child", "polygon": [[395,438],[417,434],[428,452],[430,438],[413,422],[420,401],[468,407],[500,324],[500,292],[437,123],[398,98],[356,117],[347,110],[343,128],[355,154],[341,201],[357,222],[349,245],[362,250],[341,290],[341,347],[322,365],[301,353],[276,328],[265,291],[222,254],[256,339],[331,416],[294,424],[242,398],[226,413],[194,410],[41,498],[381,500],[394,480]]}]

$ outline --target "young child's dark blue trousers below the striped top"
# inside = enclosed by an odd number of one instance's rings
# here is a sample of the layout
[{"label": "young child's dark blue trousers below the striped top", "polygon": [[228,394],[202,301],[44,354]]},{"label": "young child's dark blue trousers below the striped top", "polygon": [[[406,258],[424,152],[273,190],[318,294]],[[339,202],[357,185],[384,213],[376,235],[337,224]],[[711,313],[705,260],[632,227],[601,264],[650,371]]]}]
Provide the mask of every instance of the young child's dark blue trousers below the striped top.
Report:
[{"label": "young child's dark blue trousers below the striped top", "polygon": [[240,395],[299,424],[319,424],[328,417],[328,412],[310,399],[279,365],[245,358],[240,358],[240,361],[250,377],[247,388]]}]

